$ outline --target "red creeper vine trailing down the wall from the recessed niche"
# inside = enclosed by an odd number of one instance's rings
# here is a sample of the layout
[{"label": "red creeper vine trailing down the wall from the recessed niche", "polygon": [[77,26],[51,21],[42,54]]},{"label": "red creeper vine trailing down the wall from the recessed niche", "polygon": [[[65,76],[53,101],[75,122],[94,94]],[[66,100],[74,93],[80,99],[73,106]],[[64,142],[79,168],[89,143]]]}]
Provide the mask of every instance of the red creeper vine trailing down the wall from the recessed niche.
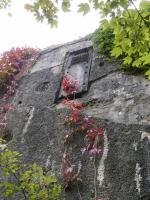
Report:
[{"label": "red creeper vine trailing down the wall from the recessed niche", "polygon": [[[97,171],[95,158],[102,153],[101,141],[103,140],[104,127],[97,126],[96,121],[93,118],[82,113],[82,110],[85,108],[84,103],[77,102],[75,98],[73,100],[69,99],[70,95],[74,94],[75,97],[75,93],[79,90],[78,82],[76,80],[73,80],[71,76],[65,76],[62,81],[62,89],[67,94],[67,97],[63,100],[63,104],[70,110],[70,114],[65,116],[65,123],[68,125],[69,131],[65,135],[64,144],[69,143],[76,134],[84,135],[82,154],[87,154],[94,158],[94,200],[100,200],[100,198],[97,197],[96,190]],[[65,188],[72,182],[77,184],[79,199],[81,200],[82,197],[79,192],[78,182],[81,182],[82,179],[79,177],[79,173],[73,174],[73,165],[70,162],[67,150],[65,150],[63,154],[63,178]]]}]

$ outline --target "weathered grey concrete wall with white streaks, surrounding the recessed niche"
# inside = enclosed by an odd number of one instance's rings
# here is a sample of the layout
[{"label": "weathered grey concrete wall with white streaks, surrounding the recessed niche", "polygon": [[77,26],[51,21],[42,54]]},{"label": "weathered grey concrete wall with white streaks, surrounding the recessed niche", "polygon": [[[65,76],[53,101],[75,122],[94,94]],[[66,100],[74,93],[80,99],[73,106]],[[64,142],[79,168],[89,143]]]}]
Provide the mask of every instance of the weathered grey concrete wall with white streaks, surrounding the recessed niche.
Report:
[{"label": "weathered grey concrete wall with white streaks, surrounding the recessed niche", "polygon": [[[66,108],[58,100],[66,52],[91,46],[82,39],[42,52],[30,73],[21,79],[8,115],[13,148],[23,152],[25,162],[47,166],[62,181],[65,150]],[[120,72],[93,54],[84,113],[106,128],[102,154],[96,158],[97,197],[103,200],[150,199],[150,82],[141,76]],[[94,160],[81,152],[83,137],[76,135],[68,146],[74,171],[80,168],[82,200],[94,199]],[[76,185],[66,191],[68,200],[78,200]],[[16,196],[15,200],[21,197]]]}]

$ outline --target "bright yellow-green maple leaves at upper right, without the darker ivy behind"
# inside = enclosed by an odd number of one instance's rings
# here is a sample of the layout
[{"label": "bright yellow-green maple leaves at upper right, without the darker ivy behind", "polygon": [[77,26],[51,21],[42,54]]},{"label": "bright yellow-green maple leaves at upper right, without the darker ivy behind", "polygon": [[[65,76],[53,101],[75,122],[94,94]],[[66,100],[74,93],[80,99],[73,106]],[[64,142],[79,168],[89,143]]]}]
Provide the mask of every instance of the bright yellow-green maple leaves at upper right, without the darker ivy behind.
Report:
[{"label": "bright yellow-green maple leaves at upper right, without the darker ivy behind", "polygon": [[118,17],[112,17],[108,22],[115,35],[111,55],[121,58],[124,67],[143,71],[149,76],[150,69],[150,2],[147,9],[140,9],[145,18],[141,18],[135,9],[128,9]]}]

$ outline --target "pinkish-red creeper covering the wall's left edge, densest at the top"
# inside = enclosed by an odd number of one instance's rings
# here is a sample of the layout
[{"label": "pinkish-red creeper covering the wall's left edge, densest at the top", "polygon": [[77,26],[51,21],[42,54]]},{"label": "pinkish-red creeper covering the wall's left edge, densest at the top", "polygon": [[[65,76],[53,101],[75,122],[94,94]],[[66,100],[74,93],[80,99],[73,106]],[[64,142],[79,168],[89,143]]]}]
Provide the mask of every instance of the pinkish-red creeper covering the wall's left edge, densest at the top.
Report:
[{"label": "pinkish-red creeper covering the wall's left edge, densest at the top", "polygon": [[12,48],[0,55],[0,89],[3,92],[0,106],[0,128],[6,126],[6,113],[14,108],[8,100],[15,92],[17,81],[27,73],[38,55],[38,49],[27,47]]}]

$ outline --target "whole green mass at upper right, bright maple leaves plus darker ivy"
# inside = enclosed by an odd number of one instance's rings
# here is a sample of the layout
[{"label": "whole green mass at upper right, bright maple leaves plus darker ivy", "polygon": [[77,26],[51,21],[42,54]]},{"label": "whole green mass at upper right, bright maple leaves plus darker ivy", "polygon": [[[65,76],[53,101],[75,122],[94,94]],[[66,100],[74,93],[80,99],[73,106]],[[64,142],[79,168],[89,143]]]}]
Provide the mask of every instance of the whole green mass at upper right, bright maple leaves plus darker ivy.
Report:
[{"label": "whole green mass at upper right, bright maple leaves plus darker ivy", "polygon": [[98,51],[107,55],[108,49],[112,57],[122,61],[123,69],[142,72],[150,80],[150,2],[142,1],[140,10],[127,8],[125,1],[121,4],[125,9],[120,9],[120,4],[110,5],[112,2],[102,8],[103,14],[109,13],[111,18],[103,20],[94,34]]}]

